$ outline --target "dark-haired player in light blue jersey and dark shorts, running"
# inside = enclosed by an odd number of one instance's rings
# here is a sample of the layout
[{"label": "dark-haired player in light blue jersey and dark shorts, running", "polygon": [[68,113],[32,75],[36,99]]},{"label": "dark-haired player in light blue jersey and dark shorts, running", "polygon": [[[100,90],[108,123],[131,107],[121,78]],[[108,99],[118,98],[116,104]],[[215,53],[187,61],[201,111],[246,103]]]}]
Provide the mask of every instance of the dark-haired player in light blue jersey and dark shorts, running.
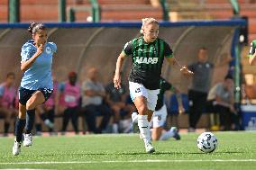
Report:
[{"label": "dark-haired player in light blue jersey and dark shorts, running", "polygon": [[[14,156],[20,154],[22,142],[25,147],[32,145],[31,131],[35,107],[47,101],[53,91],[51,63],[57,46],[53,42],[47,42],[47,30],[42,23],[33,22],[28,31],[32,33],[32,40],[23,45],[21,52],[23,79],[19,89],[19,115],[15,124]],[[24,127],[25,135],[22,141]]]}]

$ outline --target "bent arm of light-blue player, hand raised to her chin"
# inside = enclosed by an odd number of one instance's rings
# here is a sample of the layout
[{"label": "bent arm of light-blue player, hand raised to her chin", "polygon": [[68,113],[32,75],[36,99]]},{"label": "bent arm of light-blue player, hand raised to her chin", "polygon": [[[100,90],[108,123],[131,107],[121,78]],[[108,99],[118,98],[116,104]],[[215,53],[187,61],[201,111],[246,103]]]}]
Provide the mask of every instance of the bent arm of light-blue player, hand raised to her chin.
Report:
[{"label": "bent arm of light-blue player, hand raised to her chin", "polygon": [[[28,47],[29,48],[29,47]],[[24,72],[26,71],[27,69],[29,69],[30,67],[32,67],[32,64],[34,63],[34,61],[36,60],[36,58],[38,58],[41,53],[43,52],[43,48],[44,48],[44,45],[41,44],[41,46],[39,48],[37,48],[37,51],[36,53],[32,56],[32,58],[28,58],[26,60],[22,60],[22,63],[21,63],[21,70]],[[26,49],[24,49],[26,50]],[[25,52],[22,52],[22,55],[28,55],[30,51],[27,51],[27,53]],[[26,58],[22,56],[22,58]]]}]

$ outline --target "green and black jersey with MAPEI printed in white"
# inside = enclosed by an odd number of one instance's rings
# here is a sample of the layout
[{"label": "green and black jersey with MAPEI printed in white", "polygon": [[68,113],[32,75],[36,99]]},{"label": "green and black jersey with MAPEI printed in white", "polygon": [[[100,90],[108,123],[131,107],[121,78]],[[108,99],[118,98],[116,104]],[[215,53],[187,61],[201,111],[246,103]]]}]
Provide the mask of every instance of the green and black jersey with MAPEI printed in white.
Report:
[{"label": "green and black jersey with MAPEI printed in white", "polygon": [[172,57],[169,45],[161,39],[147,43],[143,37],[139,37],[127,42],[123,52],[133,58],[129,81],[142,84],[150,90],[159,89],[164,57]]}]

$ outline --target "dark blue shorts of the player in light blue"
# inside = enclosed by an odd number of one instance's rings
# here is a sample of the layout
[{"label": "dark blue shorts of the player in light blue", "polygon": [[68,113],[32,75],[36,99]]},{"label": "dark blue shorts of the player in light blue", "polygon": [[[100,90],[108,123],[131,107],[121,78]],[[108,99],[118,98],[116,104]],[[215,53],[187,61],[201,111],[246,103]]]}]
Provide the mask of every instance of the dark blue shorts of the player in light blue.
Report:
[{"label": "dark blue shorts of the player in light blue", "polygon": [[50,98],[50,94],[52,94],[53,90],[50,88],[40,88],[38,90],[28,90],[26,88],[20,87],[19,88],[19,103],[26,105],[28,100],[32,97],[32,94],[34,94],[36,91],[40,91],[46,102]]}]

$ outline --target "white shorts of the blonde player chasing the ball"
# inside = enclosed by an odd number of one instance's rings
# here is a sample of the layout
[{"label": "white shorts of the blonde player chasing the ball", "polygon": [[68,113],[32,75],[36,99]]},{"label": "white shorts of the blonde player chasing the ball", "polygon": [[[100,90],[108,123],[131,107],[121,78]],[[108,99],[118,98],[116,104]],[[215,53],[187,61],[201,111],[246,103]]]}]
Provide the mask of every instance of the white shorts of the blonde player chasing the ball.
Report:
[{"label": "white shorts of the blonde player chasing the ball", "polygon": [[134,83],[134,82],[129,82],[129,89],[130,89],[130,95],[133,101],[136,97],[144,96],[147,99],[148,109],[151,111],[155,110],[160,89],[149,90],[149,89],[146,89],[144,85]]}]

